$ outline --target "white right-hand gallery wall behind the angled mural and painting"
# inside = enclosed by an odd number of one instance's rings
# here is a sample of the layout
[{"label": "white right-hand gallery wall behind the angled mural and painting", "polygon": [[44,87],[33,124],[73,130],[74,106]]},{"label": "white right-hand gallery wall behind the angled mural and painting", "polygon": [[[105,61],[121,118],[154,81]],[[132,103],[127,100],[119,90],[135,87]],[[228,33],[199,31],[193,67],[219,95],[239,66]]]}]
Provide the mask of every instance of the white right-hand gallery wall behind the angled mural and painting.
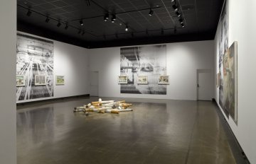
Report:
[{"label": "white right-hand gallery wall behind the angled mural and painting", "polygon": [[[227,119],[240,146],[250,163],[256,163],[256,1],[229,0],[229,33],[228,47],[238,42],[238,125],[230,117]],[[220,25],[215,35],[215,74],[218,73],[218,40]],[[219,102],[218,88],[215,88],[215,99]],[[219,105],[220,107],[220,105]]]}]

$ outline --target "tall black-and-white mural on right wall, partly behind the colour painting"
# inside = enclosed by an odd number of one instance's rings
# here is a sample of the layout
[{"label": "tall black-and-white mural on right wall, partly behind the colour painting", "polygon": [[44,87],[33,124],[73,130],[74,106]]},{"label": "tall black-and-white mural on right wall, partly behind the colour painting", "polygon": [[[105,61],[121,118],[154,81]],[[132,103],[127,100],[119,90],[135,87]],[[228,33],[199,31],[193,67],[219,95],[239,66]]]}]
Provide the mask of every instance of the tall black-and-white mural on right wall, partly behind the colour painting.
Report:
[{"label": "tall black-and-white mural on right wall, partly behind the colour painting", "polygon": [[220,86],[219,86],[219,104],[225,112],[225,115],[229,117],[228,110],[223,107],[223,59],[225,53],[228,50],[228,5],[227,1],[223,6],[223,11],[220,15],[220,35],[218,40],[219,48],[219,70],[220,70]]}]

